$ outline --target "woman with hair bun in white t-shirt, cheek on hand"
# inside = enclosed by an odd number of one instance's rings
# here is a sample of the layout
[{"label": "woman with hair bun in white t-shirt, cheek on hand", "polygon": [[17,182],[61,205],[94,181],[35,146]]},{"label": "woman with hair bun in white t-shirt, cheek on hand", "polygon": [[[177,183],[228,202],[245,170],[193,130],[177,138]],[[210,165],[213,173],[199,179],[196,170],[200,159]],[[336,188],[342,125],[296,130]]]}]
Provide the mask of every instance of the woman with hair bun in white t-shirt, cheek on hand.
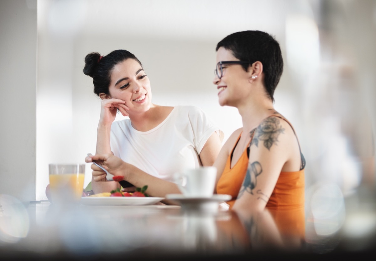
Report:
[{"label": "woman with hair bun in white t-shirt, cheek on hand", "polygon": [[[152,103],[150,81],[141,62],[126,50],[85,57],[84,74],[93,78],[94,93],[102,99],[97,128],[96,155],[113,175],[124,176],[134,187],[148,185],[147,193],[165,197],[180,193],[173,173],[186,168],[212,166],[221,149],[223,133],[195,106],[160,106]],[[129,117],[114,121],[117,112]],[[99,156],[100,155],[100,159]],[[94,164],[95,193],[120,188],[106,181]]]}]

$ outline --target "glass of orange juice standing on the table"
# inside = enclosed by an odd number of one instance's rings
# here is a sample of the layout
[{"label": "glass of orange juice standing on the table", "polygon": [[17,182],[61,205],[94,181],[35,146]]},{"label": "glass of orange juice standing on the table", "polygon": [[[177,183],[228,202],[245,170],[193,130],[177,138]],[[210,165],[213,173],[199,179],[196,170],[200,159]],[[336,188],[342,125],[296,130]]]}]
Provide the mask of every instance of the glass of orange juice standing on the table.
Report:
[{"label": "glass of orange juice standing on the table", "polygon": [[82,197],[85,164],[49,164],[53,204],[77,203]]}]

